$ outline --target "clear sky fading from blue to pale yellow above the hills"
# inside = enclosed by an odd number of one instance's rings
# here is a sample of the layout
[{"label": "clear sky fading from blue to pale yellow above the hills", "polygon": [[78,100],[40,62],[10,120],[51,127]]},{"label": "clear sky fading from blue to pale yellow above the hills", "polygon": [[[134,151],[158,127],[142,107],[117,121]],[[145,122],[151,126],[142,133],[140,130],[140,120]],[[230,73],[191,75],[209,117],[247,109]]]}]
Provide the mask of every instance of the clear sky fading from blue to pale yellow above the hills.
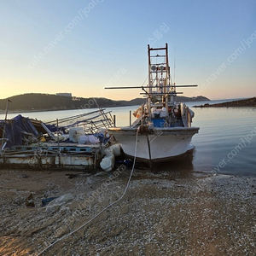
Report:
[{"label": "clear sky fading from blue to pale yellow above the hills", "polygon": [[[255,0],[0,0],[0,98],[23,93],[129,100],[147,45],[169,46],[184,96],[256,96]],[[144,83],[147,84],[147,81]]]}]

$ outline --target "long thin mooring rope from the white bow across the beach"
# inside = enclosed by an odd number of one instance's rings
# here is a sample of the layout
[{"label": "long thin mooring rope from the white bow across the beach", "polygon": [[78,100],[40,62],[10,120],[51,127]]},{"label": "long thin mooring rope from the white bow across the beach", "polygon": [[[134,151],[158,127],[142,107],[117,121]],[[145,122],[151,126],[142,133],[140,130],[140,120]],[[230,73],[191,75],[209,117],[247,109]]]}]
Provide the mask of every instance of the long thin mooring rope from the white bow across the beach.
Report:
[{"label": "long thin mooring rope from the white bow across the beach", "polygon": [[77,231],[81,230],[82,228],[84,228],[84,226],[86,226],[87,224],[90,224],[91,221],[93,221],[94,219],[96,219],[98,216],[100,216],[102,214],[102,212],[105,212],[109,207],[112,207],[114,204],[116,204],[117,202],[119,202],[125,195],[129,184],[131,182],[131,177],[132,177],[132,173],[134,171],[134,166],[135,166],[135,162],[136,162],[136,155],[137,155],[137,135],[138,135],[138,131],[139,131],[139,127],[137,128],[137,133],[136,133],[136,142],[135,142],[135,151],[134,151],[134,160],[133,160],[133,165],[131,168],[131,174],[130,177],[128,179],[128,182],[126,184],[125,190],[123,192],[123,194],[119,197],[119,199],[117,201],[113,201],[113,203],[111,203],[110,205],[108,205],[108,207],[105,207],[101,212],[98,212],[93,218],[90,218],[89,221],[87,221],[86,223],[82,224],[78,229],[73,230],[72,232],[68,233],[65,236],[62,236],[61,238],[57,239],[55,242],[51,243],[48,247],[45,247],[43,251],[41,251],[40,253],[37,254],[37,256],[41,255],[42,253],[44,253],[46,250],[48,250],[50,247],[53,247],[57,242],[65,239],[67,236],[71,236],[74,233],[76,233]]}]

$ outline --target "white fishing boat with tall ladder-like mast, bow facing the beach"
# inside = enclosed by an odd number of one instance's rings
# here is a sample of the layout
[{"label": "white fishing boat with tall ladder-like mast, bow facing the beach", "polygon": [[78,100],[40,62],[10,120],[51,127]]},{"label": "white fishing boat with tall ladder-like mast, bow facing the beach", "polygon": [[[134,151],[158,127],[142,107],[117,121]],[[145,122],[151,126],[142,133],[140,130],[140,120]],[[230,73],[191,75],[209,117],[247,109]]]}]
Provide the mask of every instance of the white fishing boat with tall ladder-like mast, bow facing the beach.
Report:
[{"label": "white fishing boat with tall ladder-like mast, bow facing the beach", "polygon": [[172,83],[168,63],[168,45],[150,48],[148,45],[148,84],[145,86],[107,87],[106,89],[141,88],[145,103],[133,113],[136,120],[126,127],[108,128],[108,133],[119,142],[124,153],[137,160],[176,160],[193,150],[192,137],[199,127],[192,127],[194,112],[185,103],[176,102],[179,87]]}]

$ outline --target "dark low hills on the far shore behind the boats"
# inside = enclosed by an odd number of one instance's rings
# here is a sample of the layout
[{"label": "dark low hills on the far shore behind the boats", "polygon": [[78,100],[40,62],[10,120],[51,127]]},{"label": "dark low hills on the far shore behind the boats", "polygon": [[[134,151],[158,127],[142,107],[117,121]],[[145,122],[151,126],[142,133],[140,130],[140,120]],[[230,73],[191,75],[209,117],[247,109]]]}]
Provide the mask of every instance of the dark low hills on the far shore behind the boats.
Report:
[{"label": "dark low hills on the far shore behind the boats", "polygon": [[[145,98],[136,98],[131,101],[113,101],[106,98],[82,98],[56,96],[51,94],[27,93],[9,97],[9,111],[42,111],[42,110],[61,110],[77,108],[97,108],[97,105],[106,107],[122,107],[141,105]],[[6,108],[7,99],[0,100],[0,111]],[[207,97],[198,96],[194,98],[177,96],[177,102],[200,102],[209,101]]]}]

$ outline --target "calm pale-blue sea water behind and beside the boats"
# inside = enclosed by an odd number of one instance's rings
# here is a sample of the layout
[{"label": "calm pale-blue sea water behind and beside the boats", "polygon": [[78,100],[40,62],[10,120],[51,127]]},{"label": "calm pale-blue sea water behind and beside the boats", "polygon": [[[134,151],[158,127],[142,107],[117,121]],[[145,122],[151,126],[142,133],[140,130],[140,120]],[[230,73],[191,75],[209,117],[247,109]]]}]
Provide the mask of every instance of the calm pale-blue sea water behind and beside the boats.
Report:
[{"label": "calm pale-blue sea water behind and beside the boats", "polygon": [[[230,100],[211,101],[209,103]],[[207,102],[188,102],[189,107]],[[116,115],[117,125],[129,125],[129,111],[138,106],[107,108]],[[192,143],[195,146],[192,169],[195,172],[218,172],[231,175],[256,175],[256,108],[192,108],[193,126],[199,126]],[[91,111],[93,109],[90,109]],[[70,117],[85,110],[20,113],[44,122]],[[17,113],[9,113],[8,119]],[[4,119],[4,115],[0,115]],[[132,119],[133,120],[133,119]],[[172,165],[172,163],[170,163]]]}]

